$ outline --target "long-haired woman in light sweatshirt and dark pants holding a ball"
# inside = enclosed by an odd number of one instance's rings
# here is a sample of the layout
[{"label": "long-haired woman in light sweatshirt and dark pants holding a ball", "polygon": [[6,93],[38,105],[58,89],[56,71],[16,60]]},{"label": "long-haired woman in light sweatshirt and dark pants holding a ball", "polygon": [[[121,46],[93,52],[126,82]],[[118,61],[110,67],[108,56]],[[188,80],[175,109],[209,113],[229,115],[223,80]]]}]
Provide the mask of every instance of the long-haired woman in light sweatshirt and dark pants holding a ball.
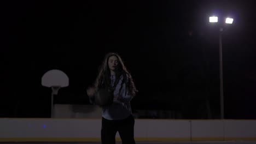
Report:
[{"label": "long-haired woman in light sweatshirt and dark pants holding a ball", "polygon": [[91,103],[99,88],[113,92],[113,103],[102,107],[102,144],[114,144],[119,132],[123,144],[134,144],[134,124],[130,101],[138,92],[131,74],[117,53],[108,53],[100,67],[93,87],[87,89]]}]

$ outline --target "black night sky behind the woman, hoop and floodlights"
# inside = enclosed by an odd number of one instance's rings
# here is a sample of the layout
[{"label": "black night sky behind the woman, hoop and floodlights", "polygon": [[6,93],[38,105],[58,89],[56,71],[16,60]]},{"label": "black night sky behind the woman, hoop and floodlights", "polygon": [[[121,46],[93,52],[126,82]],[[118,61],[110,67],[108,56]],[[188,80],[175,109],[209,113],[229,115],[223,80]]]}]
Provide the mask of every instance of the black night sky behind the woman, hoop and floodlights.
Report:
[{"label": "black night sky behind the woman, hoop and floodlights", "polygon": [[[107,52],[131,72],[136,110],[174,110],[219,118],[219,26],[224,26],[225,118],[256,118],[256,16],[253,1],[1,2],[0,117],[49,117],[46,71],[69,77],[56,104],[89,104]],[[219,16],[218,23],[208,17]]]}]

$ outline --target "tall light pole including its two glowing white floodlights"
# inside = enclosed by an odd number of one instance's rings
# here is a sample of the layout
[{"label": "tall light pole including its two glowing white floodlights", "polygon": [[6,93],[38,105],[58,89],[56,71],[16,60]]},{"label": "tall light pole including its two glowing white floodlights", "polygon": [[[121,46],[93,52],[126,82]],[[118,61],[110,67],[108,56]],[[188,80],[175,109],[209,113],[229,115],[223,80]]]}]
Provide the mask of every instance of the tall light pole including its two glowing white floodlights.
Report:
[{"label": "tall light pole including its two glowing white floodlights", "polygon": [[[210,22],[218,22],[217,16],[209,17]],[[232,24],[233,19],[226,18],[225,23]],[[222,60],[222,33],[223,27],[219,27],[219,91],[220,91],[220,118],[224,119],[224,94],[223,94],[223,60]]]}]

